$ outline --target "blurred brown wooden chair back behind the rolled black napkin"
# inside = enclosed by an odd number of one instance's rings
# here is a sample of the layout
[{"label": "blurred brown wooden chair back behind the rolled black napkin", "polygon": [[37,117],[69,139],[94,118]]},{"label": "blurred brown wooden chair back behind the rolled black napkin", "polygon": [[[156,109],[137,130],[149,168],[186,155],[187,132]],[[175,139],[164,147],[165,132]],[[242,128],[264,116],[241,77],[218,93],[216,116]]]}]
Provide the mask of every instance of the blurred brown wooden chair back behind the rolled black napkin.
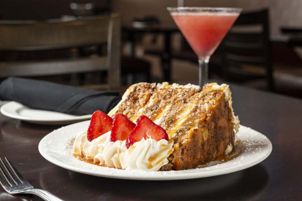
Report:
[{"label": "blurred brown wooden chair back behind the rolled black napkin", "polygon": [[107,71],[107,84],[88,88],[118,90],[120,32],[119,14],[81,17],[70,21],[0,21],[0,51],[4,52],[51,51],[107,44],[107,55],[0,61],[0,77]]}]

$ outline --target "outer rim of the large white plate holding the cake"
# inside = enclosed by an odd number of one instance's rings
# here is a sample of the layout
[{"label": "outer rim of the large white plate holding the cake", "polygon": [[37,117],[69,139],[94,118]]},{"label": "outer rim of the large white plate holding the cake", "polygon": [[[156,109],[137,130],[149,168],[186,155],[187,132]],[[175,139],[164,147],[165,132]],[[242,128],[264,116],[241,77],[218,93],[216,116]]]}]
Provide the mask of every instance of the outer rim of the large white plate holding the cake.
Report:
[{"label": "outer rim of the large white plate holding the cake", "polygon": [[[82,121],[82,122],[78,122],[78,123],[75,123],[75,124],[84,124],[84,122],[88,123],[89,121]],[[75,124],[70,124],[68,126],[65,126],[64,128],[72,127]],[[240,126],[245,127],[243,125],[240,125]],[[246,128],[249,128],[249,127],[246,127]],[[49,136],[51,136],[54,132],[56,132],[56,130],[53,130],[52,132],[48,133],[46,136],[44,136],[42,138],[42,140],[40,140],[38,150],[39,150],[40,154],[43,156],[43,158],[45,158],[47,161],[53,163],[54,165],[57,165],[61,168],[65,168],[67,170],[79,172],[79,173],[82,173],[82,174],[88,174],[88,175],[93,175],[93,176],[98,176],[98,177],[128,179],[128,180],[144,180],[144,181],[184,180],[184,179],[194,179],[194,178],[212,177],[212,176],[218,176],[218,175],[222,175],[222,174],[229,174],[229,173],[233,173],[233,172],[236,172],[236,171],[240,171],[240,170],[252,167],[252,166],[257,165],[258,163],[262,162],[263,160],[265,160],[271,154],[271,151],[272,151],[271,141],[265,135],[263,135],[262,133],[260,133],[256,130],[253,130],[253,131],[261,134],[262,136],[265,137],[265,140],[267,140],[267,146],[268,147],[267,147],[267,152],[265,152],[266,153],[265,155],[263,155],[262,157],[256,158],[256,159],[252,159],[251,162],[244,163],[243,165],[241,164],[238,167],[226,167],[226,168],[220,169],[219,171],[214,171],[213,170],[213,171],[209,171],[209,172],[185,172],[187,170],[180,170],[180,171],[184,171],[184,172],[177,171],[177,172],[179,172],[178,174],[127,174],[127,172],[126,172],[126,174],[125,173],[117,173],[117,172],[114,172],[115,174],[108,174],[107,171],[104,171],[104,172],[103,171],[97,171],[96,172],[96,171],[87,170],[85,168],[76,167],[76,166],[73,166],[71,164],[67,164],[65,162],[62,162],[62,161],[60,161],[56,158],[53,158],[52,156],[48,155],[45,150],[43,150],[42,146],[43,146],[44,141]],[[121,170],[121,171],[123,171],[123,170]],[[131,170],[127,170],[127,171],[131,171]],[[142,171],[142,172],[144,172],[144,171]],[[157,172],[159,172],[159,171],[157,171]],[[161,171],[161,172],[169,172],[169,171]],[[156,172],[154,172],[154,173],[156,173]]]}]

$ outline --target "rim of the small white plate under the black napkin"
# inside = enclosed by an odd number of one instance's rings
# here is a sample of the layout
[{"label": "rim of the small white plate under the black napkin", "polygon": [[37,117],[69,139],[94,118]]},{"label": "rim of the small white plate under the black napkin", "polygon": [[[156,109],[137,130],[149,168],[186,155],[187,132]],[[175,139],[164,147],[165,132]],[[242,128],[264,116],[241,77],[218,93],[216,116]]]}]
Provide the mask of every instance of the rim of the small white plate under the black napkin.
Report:
[{"label": "rim of the small white plate under the black napkin", "polygon": [[[7,102],[5,104],[3,104],[1,107],[0,107],[0,112],[2,113],[2,115],[5,115],[7,117],[10,117],[10,118],[14,118],[14,119],[20,119],[20,120],[23,120],[23,121],[29,121],[29,122],[70,122],[70,121],[81,121],[81,120],[86,120],[88,118],[91,118],[91,115],[81,115],[81,116],[75,116],[73,118],[70,118],[70,119],[66,119],[66,118],[57,118],[57,119],[38,119],[38,118],[34,118],[34,117],[28,117],[28,116],[22,116],[22,115],[15,115],[15,114],[12,114],[10,112],[8,112],[6,110],[7,107],[11,107],[11,106],[14,106],[14,107],[26,107],[26,108],[29,108],[29,109],[33,109],[33,108],[30,108],[26,105],[23,105],[22,103],[19,103],[19,102],[16,102],[16,101],[10,101],[10,102]],[[40,110],[40,109],[33,109],[33,110]],[[40,110],[40,111],[48,111],[48,110]],[[51,112],[56,112],[56,111],[51,111]],[[57,113],[60,113],[60,112],[57,112]]]}]

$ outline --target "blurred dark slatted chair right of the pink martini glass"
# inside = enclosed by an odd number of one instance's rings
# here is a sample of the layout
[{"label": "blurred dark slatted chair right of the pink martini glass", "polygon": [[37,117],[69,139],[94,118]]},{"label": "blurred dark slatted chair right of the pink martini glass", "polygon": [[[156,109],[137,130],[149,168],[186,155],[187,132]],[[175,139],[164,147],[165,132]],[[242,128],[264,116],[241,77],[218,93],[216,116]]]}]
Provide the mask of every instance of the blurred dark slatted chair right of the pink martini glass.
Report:
[{"label": "blurred dark slatted chair right of the pink martini glass", "polygon": [[222,74],[229,81],[266,79],[274,90],[268,10],[242,13],[223,39]]}]

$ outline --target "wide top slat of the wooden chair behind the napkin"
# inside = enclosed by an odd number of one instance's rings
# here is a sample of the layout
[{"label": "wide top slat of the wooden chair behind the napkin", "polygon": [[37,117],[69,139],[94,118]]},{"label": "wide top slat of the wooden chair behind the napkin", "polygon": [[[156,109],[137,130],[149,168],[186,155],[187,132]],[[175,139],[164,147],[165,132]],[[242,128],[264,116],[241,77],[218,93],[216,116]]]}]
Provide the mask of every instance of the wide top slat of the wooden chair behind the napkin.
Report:
[{"label": "wide top slat of the wooden chair behind the napkin", "polygon": [[40,50],[101,44],[108,40],[111,17],[62,21],[1,21],[0,50]]}]

